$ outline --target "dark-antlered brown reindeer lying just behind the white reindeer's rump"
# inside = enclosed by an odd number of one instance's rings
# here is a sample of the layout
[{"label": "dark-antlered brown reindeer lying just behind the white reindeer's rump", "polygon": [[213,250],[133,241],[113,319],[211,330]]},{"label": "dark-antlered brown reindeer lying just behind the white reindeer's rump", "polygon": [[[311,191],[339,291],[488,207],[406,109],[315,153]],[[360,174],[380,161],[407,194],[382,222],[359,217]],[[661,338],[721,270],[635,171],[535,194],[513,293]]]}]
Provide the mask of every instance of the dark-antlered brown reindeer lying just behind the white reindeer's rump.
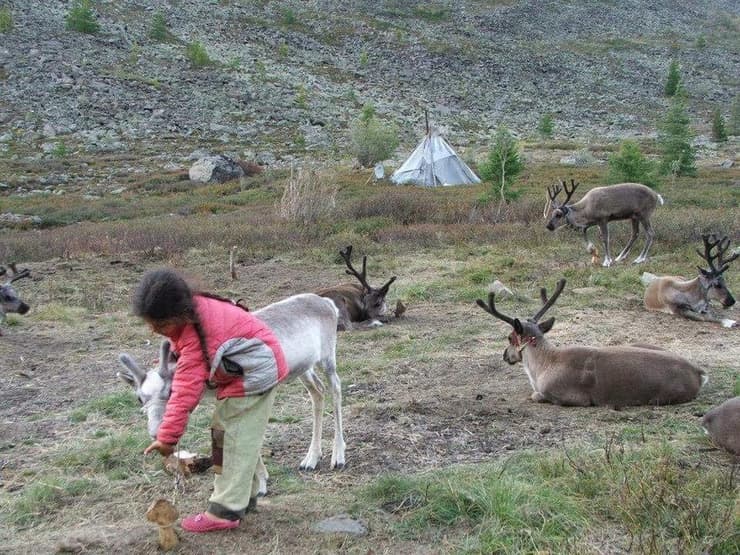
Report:
[{"label": "dark-antlered brown reindeer lying just behind the white reindeer's rump", "polygon": [[339,330],[351,330],[356,323],[358,327],[377,328],[387,321],[386,313],[388,307],[385,296],[391,283],[396,281],[393,276],[380,289],[371,287],[367,282],[367,256],[362,257],[362,273],[357,272],[352,266],[352,245],[339,251],[340,256],[347,264],[349,275],[355,276],[360,282],[345,283],[334,287],[327,287],[317,291],[317,295],[331,299],[339,309]]}]

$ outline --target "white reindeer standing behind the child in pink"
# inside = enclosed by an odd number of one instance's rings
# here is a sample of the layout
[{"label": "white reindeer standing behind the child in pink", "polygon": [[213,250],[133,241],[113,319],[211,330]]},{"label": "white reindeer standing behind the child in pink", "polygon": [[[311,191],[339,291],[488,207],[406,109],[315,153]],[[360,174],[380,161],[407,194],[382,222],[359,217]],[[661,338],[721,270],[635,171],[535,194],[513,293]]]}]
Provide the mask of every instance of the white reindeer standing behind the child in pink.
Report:
[{"label": "white reindeer standing behind the child in pink", "polygon": [[[267,324],[280,342],[288,363],[289,379],[299,378],[311,395],[313,430],[311,445],[300,464],[302,470],[314,470],[321,459],[321,433],[324,413],[324,384],[316,374],[320,366],[331,385],[334,399],[334,446],[331,468],[344,466],[342,431],[342,386],[337,375],[336,342],[338,311],[334,303],[312,293],[288,297],[254,312]],[[162,343],[159,368],[145,372],[127,354],[119,357],[126,371],[119,378],[136,389],[136,396],[147,415],[149,435],[156,437],[170,396],[175,361],[168,341]],[[257,463],[260,493],[267,492],[267,469],[262,458]]]}]

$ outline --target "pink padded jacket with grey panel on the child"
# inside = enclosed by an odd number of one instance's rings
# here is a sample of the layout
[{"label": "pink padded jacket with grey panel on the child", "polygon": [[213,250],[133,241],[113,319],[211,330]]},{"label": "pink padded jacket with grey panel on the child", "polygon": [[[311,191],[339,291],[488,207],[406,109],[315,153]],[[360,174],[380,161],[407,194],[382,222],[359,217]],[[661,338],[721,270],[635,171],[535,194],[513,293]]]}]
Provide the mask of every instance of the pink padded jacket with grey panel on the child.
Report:
[{"label": "pink padded jacket with grey panel on the child", "polygon": [[[262,393],[287,377],[288,366],[280,344],[272,330],[259,318],[228,302],[199,295],[195,297],[195,305],[201,326],[205,330],[211,360],[224,343],[235,338],[246,338],[256,348],[257,370],[261,375],[269,376],[267,387],[262,387],[260,391],[250,391],[246,387],[250,383],[249,380],[240,375],[226,373],[219,364],[211,380],[216,386],[217,399]],[[178,358],[172,379],[172,394],[167,401],[157,439],[163,443],[174,444],[185,433],[188,417],[200,402],[206,388],[206,380],[210,377],[211,360],[208,364],[203,360],[198,334],[192,324],[177,328],[169,336],[169,340],[172,351]],[[270,370],[268,374],[265,373],[266,358],[269,366],[267,369]],[[249,373],[250,369],[245,369],[245,376]]]}]

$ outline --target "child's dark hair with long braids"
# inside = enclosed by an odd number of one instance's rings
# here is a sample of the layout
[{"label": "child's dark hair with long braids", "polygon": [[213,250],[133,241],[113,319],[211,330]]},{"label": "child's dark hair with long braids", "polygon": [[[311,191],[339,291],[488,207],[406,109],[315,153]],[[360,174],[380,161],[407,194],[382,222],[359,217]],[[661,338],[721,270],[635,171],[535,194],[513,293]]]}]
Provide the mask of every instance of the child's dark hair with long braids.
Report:
[{"label": "child's dark hair with long braids", "polygon": [[[134,314],[148,320],[177,320],[183,324],[191,323],[198,334],[200,350],[206,366],[210,367],[210,357],[206,343],[206,334],[200,323],[198,312],[195,310],[194,296],[200,295],[220,301],[232,301],[213,293],[193,291],[175,270],[161,268],[150,270],[144,274],[139,282],[132,301]],[[241,305],[240,308],[246,310]]]}]

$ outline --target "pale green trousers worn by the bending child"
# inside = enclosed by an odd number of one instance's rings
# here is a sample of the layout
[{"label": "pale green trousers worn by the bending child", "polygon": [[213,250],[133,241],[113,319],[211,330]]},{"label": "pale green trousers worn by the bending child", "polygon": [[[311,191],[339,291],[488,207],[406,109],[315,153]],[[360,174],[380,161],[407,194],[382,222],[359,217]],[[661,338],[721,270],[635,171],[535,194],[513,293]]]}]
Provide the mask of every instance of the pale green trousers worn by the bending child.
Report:
[{"label": "pale green trousers worn by the bending child", "polygon": [[216,477],[208,511],[221,518],[244,516],[249,499],[257,496],[255,468],[262,449],[275,388],[261,395],[216,401],[211,425]]}]

